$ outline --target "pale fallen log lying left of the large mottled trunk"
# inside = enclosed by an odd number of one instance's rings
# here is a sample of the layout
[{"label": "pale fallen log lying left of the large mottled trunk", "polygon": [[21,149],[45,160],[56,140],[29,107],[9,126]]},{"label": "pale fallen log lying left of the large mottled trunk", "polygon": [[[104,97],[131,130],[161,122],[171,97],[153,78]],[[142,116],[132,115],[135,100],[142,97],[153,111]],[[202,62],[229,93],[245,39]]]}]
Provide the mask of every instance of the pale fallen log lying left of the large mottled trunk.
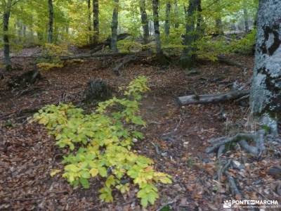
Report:
[{"label": "pale fallen log lying left of the large mottled trunk", "polygon": [[178,105],[190,105],[190,104],[205,104],[205,103],[221,103],[224,101],[231,101],[242,96],[249,95],[249,90],[244,91],[230,91],[223,94],[203,94],[203,95],[190,95],[181,96],[176,98]]}]

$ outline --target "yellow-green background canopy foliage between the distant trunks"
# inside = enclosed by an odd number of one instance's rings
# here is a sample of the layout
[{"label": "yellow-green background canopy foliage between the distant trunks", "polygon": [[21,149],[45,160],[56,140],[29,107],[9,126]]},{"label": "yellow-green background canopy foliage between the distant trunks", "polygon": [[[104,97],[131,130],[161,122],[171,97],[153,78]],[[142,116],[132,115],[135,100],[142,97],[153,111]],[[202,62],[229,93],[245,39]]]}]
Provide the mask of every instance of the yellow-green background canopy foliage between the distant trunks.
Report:
[{"label": "yellow-green background canopy foliage between the distant trunks", "polygon": [[[10,1],[10,0],[8,0]],[[2,0],[2,15],[7,10],[8,1]],[[11,0],[11,18],[8,27],[8,34],[13,50],[22,46],[41,45],[48,41],[48,24],[50,5],[48,1],[41,0]],[[120,41],[119,47],[136,43],[145,43],[143,25],[148,25],[148,39],[154,40],[153,29],[153,8],[152,1],[111,1],[111,0],[53,0],[53,39],[54,44],[86,45],[96,41],[103,41],[111,37],[112,33],[112,11],[118,9],[117,34],[131,34],[129,40]],[[95,5],[98,4],[98,7]],[[223,41],[218,39],[210,43],[210,37],[220,32],[233,32],[250,30],[256,19],[256,0],[214,0],[199,2],[200,9],[193,16],[197,27],[202,22],[200,30],[196,34],[203,33],[206,36],[199,36],[197,50],[207,51],[207,46],[214,51],[220,48]],[[159,1],[158,20],[162,49],[172,47],[183,48],[185,25],[192,18],[186,17],[188,1]],[[98,13],[98,14],[95,14]],[[142,18],[146,16],[146,20]],[[98,20],[95,18],[98,17]],[[244,20],[246,17],[246,21]],[[189,20],[188,20],[189,19]],[[246,23],[247,22],[247,23]],[[3,24],[3,23],[2,23]],[[4,33],[4,32],[2,32]],[[5,32],[7,33],[7,32]],[[147,41],[146,41],[147,42]],[[4,42],[2,41],[3,45]],[[125,47],[126,49],[126,47]],[[226,50],[226,49],[224,49]],[[204,54],[201,52],[201,54]]]}]

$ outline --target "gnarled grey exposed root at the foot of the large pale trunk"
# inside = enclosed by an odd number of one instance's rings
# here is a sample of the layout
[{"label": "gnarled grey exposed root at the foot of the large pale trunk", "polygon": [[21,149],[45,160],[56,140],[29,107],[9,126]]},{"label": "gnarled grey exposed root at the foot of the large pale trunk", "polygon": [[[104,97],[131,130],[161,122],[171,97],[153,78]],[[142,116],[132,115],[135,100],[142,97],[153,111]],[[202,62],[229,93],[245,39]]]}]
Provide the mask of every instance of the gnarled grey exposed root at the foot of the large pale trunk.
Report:
[{"label": "gnarled grey exposed root at the foot of the large pale trunk", "polygon": [[[220,157],[225,149],[226,144],[229,143],[239,143],[241,148],[256,157],[260,157],[261,153],[265,150],[265,146],[263,144],[263,139],[266,132],[265,130],[261,129],[254,134],[246,134],[241,133],[237,134],[233,137],[221,137],[218,139],[214,139],[211,141],[212,146],[206,149],[206,153],[214,153],[217,151],[218,157]],[[250,146],[248,144],[249,141],[253,141],[255,146]]]}]

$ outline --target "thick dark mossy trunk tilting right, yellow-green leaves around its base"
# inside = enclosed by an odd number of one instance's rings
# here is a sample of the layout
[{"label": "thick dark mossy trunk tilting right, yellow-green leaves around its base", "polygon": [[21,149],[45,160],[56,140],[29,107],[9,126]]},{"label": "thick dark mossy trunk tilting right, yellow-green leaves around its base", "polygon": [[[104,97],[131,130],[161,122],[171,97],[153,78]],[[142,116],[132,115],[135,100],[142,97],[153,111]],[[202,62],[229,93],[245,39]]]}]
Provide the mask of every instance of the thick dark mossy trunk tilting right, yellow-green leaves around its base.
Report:
[{"label": "thick dark mossy trunk tilting right, yellow-green leaves around its base", "polygon": [[193,64],[192,49],[195,41],[195,11],[197,11],[198,1],[190,0],[188,10],[185,9],[185,39],[183,41],[183,53],[181,54],[181,66],[190,68]]}]

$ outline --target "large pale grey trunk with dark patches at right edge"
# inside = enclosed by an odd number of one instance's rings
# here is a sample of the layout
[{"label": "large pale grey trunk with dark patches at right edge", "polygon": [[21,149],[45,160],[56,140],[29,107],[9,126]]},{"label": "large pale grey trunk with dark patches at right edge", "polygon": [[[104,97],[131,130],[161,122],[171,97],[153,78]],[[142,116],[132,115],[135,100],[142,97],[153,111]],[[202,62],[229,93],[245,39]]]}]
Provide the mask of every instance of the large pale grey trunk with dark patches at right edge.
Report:
[{"label": "large pale grey trunk with dark patches at right edge", "polygon": [[251,112],[277,133],[281,119],[281,1],[260,0]]}]

